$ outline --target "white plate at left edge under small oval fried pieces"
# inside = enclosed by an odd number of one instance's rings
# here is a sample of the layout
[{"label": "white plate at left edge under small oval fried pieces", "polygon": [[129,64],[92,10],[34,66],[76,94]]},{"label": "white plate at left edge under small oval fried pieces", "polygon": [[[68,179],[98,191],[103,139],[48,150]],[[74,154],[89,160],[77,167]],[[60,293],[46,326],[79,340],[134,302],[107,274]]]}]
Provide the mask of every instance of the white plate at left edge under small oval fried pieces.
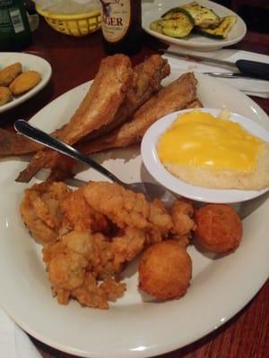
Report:
[{"label": "white plate at left edge under small oval fried pieces", "polygon": [[18,52],[3,52],[0,53],[0,70],[9,64],[20,62],[22,64],[22,72],[24,71],[37,71],[40,73],[41,81],[31,90],[24,93],[22,96],[13,98],[11,102],[6,103],[4,106],[0,106],[0,113],[7,111],[13,107],[20,105],[27,99],[36,95],[39,90],[42,90],[48,83],[51,77],[51,66],[48,61],[37,55],[30,55]]}]

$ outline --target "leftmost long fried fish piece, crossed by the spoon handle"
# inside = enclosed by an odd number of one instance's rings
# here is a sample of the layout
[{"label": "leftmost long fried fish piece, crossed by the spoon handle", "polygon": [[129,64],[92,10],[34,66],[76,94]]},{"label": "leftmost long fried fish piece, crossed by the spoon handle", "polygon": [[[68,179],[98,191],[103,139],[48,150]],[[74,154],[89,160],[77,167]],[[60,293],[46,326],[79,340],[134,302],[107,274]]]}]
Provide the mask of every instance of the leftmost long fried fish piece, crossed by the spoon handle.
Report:
[{"label": "leftmost long fried fish piece, crossed by the spoon handle", "polygon": [[[57,138],[72,145],[111,122],[133,84],[134,71],[129,57],[113,55],[103,59],[90,90],[70,122],[57,131]],[[59,154],[51,149],[39,150],[16,180],[29,182],[41,168],[53,166],[57,158]]]}]

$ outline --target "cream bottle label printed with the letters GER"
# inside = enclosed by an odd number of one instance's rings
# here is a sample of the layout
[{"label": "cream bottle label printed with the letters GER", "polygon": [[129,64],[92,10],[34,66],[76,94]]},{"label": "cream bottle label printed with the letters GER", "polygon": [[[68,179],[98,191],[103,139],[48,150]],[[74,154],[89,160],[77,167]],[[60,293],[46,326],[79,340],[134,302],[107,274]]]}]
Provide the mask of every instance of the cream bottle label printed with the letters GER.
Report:
[{"label": "cream bottle label printed with the letters GER", "polygon": [[130,0],[100,0],[102,5],[102,32],[108,42],[125,37],[131,21]]}]

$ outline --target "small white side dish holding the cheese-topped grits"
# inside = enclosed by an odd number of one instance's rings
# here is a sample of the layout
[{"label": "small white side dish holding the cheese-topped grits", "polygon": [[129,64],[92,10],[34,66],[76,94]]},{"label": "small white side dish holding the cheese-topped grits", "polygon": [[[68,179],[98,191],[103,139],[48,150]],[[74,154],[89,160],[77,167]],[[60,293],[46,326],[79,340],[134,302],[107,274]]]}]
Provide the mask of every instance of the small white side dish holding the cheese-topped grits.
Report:
[{"label": "small white side dish holding the cheese-topped grits", "polygon": [[[159,141],[161,134],[169,128],[178,115],[191,112],[192,110],[193,109],[187,109],[166,115],[159,121],[152,124],[152,126],[144,134],[141,145],[143,164],[146,166],[151,175],[171,192],[175,192],[179,195],[183,195],[189,199],[197,201],[232,203],[254,199],[257,196],[268,192],[269,188],[265,188],[260,191],[202,188],[200,186],[183,182],[166,170],[158,157],[156,144]],[[210,113],[214,116],[218,116],[220,114],[220,109],[201,108],[201,111]],[[256,124],[254,121],[251,121],[243,115],[236,115],[234,113],[230,115],[230,120],[241,124],[248,132],[261,138],[263,141],[269,142],[269,132],[267,132],[260,125]]]}]

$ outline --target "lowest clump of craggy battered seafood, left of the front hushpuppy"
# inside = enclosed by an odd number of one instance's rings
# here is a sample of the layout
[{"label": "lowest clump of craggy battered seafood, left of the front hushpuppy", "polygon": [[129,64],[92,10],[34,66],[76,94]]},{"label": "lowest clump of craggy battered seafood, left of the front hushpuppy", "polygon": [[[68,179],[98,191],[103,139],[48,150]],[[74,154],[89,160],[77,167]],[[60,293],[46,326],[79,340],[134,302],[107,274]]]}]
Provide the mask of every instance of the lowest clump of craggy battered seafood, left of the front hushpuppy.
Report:
[{"label": "lowest clump of craggy battered seafood, left of the front hushpuppy", "polygon": [[112,241],[102,234],[73,231],[44,247],[43,260],[58,303],[66,304],[73,297],[85,306],[107,309],[108,301],[115,301],[126,289],[114,274],[143,250],[144,242],[143,232],[127,228]]}]

